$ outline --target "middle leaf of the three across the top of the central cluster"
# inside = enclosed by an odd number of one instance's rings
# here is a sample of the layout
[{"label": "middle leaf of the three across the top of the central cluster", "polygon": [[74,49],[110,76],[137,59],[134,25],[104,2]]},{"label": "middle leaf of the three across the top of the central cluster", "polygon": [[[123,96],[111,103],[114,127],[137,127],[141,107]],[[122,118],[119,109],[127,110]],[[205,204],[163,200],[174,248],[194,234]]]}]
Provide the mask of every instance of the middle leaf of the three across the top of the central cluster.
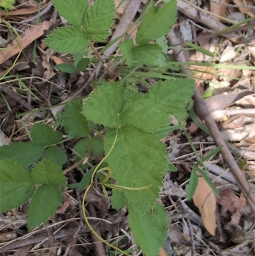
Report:
[{"label": "middle leaf of the three across the top of the central cluster", "polygon": [[123,124],[133,124],[146,131],[167,126],[171,121],[161,103],[143,93],[133,94],[125,100],[120,117]]}]

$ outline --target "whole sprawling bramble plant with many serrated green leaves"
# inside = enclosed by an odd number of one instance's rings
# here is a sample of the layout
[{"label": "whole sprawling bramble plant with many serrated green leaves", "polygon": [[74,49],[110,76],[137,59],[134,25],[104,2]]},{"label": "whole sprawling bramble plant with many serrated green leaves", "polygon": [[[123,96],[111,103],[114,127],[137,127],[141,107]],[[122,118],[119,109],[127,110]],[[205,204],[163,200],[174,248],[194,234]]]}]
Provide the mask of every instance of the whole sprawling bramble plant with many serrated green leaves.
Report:
[{"label": "whole sprawling bramble plant with many serrated green leaves", "polygon": [[[63,54],[77,54],[88,45],[95,50],[92,42],[103,41],[110,35],[115,15],[113,0],[96,0],[92,6],[80,0],[52,0],[52,3],[72,26],[53,31],[45,40],[49,47]],[[149,8],[138,27],[136,43],[131,39],[120,43],[126,64],[164,65],[162,38],[175,23],[176,5],[177,1],[171,0],[162,8]],[[98,56],[98,52],[95,54]],[[89,64],[89,60],[86,61],[85,64]],[[77,65],[73,66],[73,71],[78,70]],[[170,126],[170,116],[184,116],[187,102],[193,95],[194,81],[159,80],[148,93],[131,91],[127,83],[128,78],[107,82],[98,86],[83,105],[78,100],[67,103],[60,121],[69,139],[80,138],[73,147],[73,154],[81,165],[91,154],[105,153],[102,162],[107,167],[99,169],[100,162],[78,184],[80,190],[87,188],[84,200],[94,184],[94,176],[106,170],[108,175],[99,179],[105,194],[105,187],[113,190],[112,207],[128,207],[129,225],[137,245],[145,255],[157,255],[159,248],[164,246],[168,226],[168,215],[157,199],[164,174],[168,169],[175,170],[168,162],[166,148],[160,139],[184,126]],[[96,136],[100,133],[97,124],[105,127],[104,140]],[[67,170],[62,172],[62,165],[67,161],[59,147],[64,142],[62,133],[46,124],[34,124],[30,137],[31,142],[1,147],[0,210],[9,211],[31,197],[28,211],[31,230],[54,215],[57,206],[61,205],[64,186],[72,184],[66,183]],[[110,178],[116,183],[109,183]],[[44,211],[41,211],[42,206]],[[85,220],[89,225],[86,216]]]}]

